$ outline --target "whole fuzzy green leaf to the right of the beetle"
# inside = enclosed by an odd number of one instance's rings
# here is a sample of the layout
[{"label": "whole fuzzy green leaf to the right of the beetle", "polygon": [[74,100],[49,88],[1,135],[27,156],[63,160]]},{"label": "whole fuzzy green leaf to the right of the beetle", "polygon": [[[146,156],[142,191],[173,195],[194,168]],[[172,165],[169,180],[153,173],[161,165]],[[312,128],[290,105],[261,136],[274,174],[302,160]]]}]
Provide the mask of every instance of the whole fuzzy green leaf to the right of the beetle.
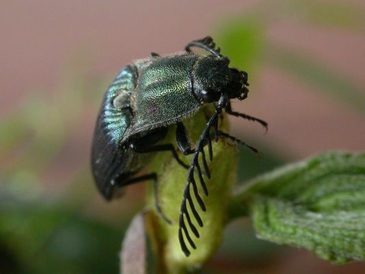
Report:
[{"label": "whole fuzzy green leaf to the right of the beetle", "polygon": [[365,153],[284,166],[236,190],[232,203],[250,209],[259,238],[336,263],[365,261]]}]

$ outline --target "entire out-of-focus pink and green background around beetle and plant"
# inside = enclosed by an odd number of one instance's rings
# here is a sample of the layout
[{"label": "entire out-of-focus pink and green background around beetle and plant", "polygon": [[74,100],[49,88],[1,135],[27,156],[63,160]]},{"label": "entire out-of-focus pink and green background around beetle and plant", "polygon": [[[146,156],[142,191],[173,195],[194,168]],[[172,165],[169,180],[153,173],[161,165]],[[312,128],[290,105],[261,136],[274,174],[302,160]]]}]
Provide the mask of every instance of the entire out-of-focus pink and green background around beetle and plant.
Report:
[{"label": "entire out-of-focus pink and green background around beetle and plant", "polygon": [[[240,183],[328,150],[365,149],[365,2],[1,1],[0,273],[118,273],[125,229],[144,185],[106,203],[90,175],[103,92],[131,60],[211,35],[249,72],[231,132]],[[364,273],[227,227],[203,273]]]}]

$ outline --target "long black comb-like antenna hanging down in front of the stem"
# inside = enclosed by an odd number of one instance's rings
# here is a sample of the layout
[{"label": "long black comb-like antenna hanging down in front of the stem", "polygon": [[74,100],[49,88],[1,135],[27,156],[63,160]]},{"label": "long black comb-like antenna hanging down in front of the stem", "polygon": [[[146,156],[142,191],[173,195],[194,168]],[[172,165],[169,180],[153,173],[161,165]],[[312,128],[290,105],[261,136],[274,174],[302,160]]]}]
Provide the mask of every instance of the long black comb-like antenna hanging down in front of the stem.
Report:
[{"label": "long black comb-like antenna hanging down in front of the stem", "polygon": [[[216,134],[216,138],[218,138],[218,135],[220,132],[218,132],[218,116],[221,114],[223,107],[227,104],[227,95],[223,94],[221,95],[221,98],[218,101],[218,107],[216,108],[214,114],[212,117],[210,117],[209,121],[207,122],[207,125],[205,129],[203,130],[203,133],[201,134],[199,141],[197,142],[197,146],[195,148],[194,155],[192,156],[192,161],[190,164],[190,168],[188,171],[188,180],[186,182],[186,186],[184,188],[184,195],[183,200],[181,201],[181,208],[180,208],[180,216],[179,216],[179,242],[181,246],[181,250],[185,253],[186,256],[190,255],[190,251],[188,247],[186,246],[186,242],[184,240],[183,236],[183,230],[185,234],[185,238],[190,243],[190,246],[193,249],[196,249],[197,247],[194,245],[194,242],[192,241],[192,238],[190,237],[188,233],[188,228],[186,227],[185,219],[188,222],[188,225],[190,229],[192,230],[193,234],[199,238],[199,232],[197,231],[197,228],[192,224],[192,221],[190,219],[190,215],[188,212],[188,208],[186,206],[186,201],[189,201],[190,205],[190,211],[194,215],[194,218],[197,220],[197,223],[200,227],[203,227],[203,221],[201,220],[201,217],[199,216],[199,213],[195,209],[194,203],[192,201],[192,197],[190,195],[190,184],[192,185],[192,190],[194,192],[194,197],[197,200],[197,203],[199,204],[199,207],[203,212],[205,212],[205,204],[203,202],[203,199],[201,199],[201,196],[198,192],[197,182],[195,182],[194,179],[194,169],[197,168],[197,173],[199,177],[199,182],[201,184],[201,188],[203,189],[204,194],[207,196],[207,186],[205,185],[203,174],[201,173],[201,167],[199,166],[199,153],[202,155],[202,162],[203,167],[205,170],[205,175],[209,178],[210,177],[210,171],[207,166],[207,160],[205,159],[205,152],[204,152],[204,146],[208,146],[209,156],[212,160],[213,158],[213,152],[212,152],[212,140],[210,139],[210,128],[214,127],[214,132]],[[184,219],[185,215],[185,219]]]}]

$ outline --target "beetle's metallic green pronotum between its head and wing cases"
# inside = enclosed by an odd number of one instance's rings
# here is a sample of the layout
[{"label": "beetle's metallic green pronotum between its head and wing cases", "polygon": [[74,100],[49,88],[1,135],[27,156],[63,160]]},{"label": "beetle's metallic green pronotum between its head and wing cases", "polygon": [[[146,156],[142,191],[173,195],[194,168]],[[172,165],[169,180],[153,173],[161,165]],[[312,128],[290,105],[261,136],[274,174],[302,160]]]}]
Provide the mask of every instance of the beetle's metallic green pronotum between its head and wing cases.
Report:
[{"label": "beetle's metallic green pronotum between its head and wing cases", "polygon": [[201,55],[192,54],[156,58],[138,71],[137,87],[131,95],[131,106],[136,112],[123,141],[197,112],[201,103],[192,91],[192,71],[200,58]]}]

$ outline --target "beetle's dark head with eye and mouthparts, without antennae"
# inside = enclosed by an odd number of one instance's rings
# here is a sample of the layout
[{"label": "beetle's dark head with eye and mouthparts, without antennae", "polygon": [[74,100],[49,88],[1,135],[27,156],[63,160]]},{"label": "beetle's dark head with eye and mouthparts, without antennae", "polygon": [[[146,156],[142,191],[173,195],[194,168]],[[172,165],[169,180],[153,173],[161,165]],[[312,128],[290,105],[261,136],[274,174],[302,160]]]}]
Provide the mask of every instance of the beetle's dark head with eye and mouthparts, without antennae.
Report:
[{"label": "beetle's dark head with eye and mouthparts, without antennae", "polygon": [[228,58],[212,55],[202,58],[195,65],[194,92],[203,103],[218,101],[224,93],[229,99],[243,100],[247,97],[247,73],[231,69],[228,65]]}]

